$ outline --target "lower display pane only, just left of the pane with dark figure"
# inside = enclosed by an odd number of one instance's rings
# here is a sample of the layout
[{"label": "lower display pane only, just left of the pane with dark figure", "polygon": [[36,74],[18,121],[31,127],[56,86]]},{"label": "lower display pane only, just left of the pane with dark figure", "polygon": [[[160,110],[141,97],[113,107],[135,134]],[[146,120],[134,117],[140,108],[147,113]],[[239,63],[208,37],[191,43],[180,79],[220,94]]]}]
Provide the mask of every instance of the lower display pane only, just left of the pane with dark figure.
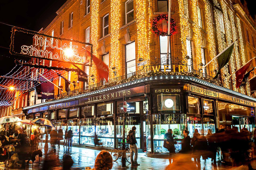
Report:
[{"label": "lower display pane only, just left of the pane with dark figure", "polygon": [[81,119],[80,144],[94,145],[95,119]]}]

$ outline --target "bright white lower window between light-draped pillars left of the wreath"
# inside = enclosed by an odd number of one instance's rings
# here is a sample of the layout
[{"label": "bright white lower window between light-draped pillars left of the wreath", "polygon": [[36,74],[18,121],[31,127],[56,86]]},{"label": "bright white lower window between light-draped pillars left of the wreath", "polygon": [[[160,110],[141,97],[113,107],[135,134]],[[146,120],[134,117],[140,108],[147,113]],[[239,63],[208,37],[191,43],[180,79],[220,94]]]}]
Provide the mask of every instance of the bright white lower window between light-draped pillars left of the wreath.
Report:
[{"label": "bright white lower window between light-draped pillars left of the wreath", "polygon": [[126,74],[136,71],[135,42],[125,46]]}]

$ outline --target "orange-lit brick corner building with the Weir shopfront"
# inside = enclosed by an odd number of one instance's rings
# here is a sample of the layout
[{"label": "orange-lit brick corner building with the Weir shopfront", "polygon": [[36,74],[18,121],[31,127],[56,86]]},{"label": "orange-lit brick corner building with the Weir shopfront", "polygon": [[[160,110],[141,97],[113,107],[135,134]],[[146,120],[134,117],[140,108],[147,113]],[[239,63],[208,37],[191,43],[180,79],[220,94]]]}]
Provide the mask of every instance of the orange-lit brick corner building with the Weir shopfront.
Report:
[{"label": "orange-lit brick corner building with the Weir shopfront", "polygon": [[[93,44],[93,54],[109,66],[109,80],[99,78],[94,64],[81,67],[90,76],[88,83],[78,82],[77,74],[69,73],[67,78],[77,82],[76,87],[71,85],[69,93],[59,91],[54,100],[23,108],[26,116],[47,118],[57,129],[71,128],[77,146],[114,148],[122,142],[125,97],[126,133],[136,126],[138,148],[152,157],[168,153],[163,135],[170,128],[177,141],[176,152],[181,149],[184,129],[190,136],[195,129],[207,134],[208,129],[215,133],[220,127],[236,126],[241,130],[244,125],[252,131],[256,99],[251,97],[250,84],[236,88],[235,75],[227,80],[224,77],[253,58],[250,53],[255,53],[255,20],[239,0],[173,1],[171,17],[176,27],[170,37],[168,59],[167,36],[159,36],[155,29],[166,30],[163,17],[168,14],[167,3],[68,0],[41,31]],[[201,68],[234,40],[238,41],[230,62],[214,80],[217,60]],[[253,62],[251,67],[255,66]],[[64,87],[61,79],[54,83]],[[96,136],[101,146],[94,143]]]}]

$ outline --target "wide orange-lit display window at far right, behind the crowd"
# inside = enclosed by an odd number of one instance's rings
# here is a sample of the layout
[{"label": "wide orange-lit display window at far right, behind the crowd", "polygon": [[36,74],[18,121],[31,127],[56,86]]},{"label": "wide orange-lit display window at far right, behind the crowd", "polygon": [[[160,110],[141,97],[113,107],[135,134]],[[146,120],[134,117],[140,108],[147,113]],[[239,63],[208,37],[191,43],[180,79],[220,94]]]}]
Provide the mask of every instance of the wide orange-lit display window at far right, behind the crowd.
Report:
[{"label": "wide orange-lit display window at far right, behind the crowd", "polygon": [[240,132],[244,127],[253,132],[255,127],[254,108],[218,101],[220,128],[238,128]]}]

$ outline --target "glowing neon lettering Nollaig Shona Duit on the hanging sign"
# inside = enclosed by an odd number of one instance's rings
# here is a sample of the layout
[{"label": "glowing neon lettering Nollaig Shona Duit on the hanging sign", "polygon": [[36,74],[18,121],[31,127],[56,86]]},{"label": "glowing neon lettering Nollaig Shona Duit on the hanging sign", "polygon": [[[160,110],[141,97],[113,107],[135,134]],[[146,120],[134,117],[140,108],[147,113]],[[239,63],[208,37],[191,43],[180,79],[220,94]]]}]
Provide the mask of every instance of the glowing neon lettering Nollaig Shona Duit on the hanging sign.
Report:
[{"label": "glowing neon lettering Nollaig Shona Duit on the hanging sign", "polygon": [[[21,46],[21,54],[41,57],[41,58],[48,58],[48,59],[57,59],[57,60],[64,60],[67,62],[80,62],[86,63],[87,59],[85,57],[81,57],[78,54],[78,46],[72,45],[72,42],[67,45],[64,43],[61,45],[58,40],[50,38],[47,40],[47,37],[44,39],[43,37],[38,37],[37,35],[34,36],[34,45],[22,45]],[[40,47],[43,47],[42,50]],[[72,51],[71,53],[67,54],[65,51]]]}]

